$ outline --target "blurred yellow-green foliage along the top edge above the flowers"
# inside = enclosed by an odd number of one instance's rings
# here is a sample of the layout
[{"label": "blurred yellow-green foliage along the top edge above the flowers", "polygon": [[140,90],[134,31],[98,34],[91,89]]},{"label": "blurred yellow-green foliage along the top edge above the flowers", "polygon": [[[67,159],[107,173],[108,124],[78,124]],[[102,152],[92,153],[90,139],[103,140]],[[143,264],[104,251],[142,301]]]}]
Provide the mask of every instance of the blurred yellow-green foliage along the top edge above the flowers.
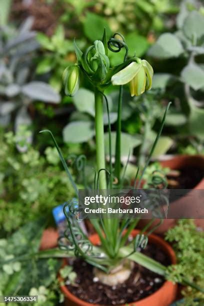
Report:
[{"label": "blurred yellow-green foliage along the top edge above the flowers", "polygon": [[[98,39],[104,26],[108,35],[109,30],[127,34],[136,29],[137,34],[144,36],[150,31],[161,32],[173,26],[171,15],[178,11],[177,0],[118,0],[117,3],[115,0],[63,0],[61,4],[64,8],[61,21],[68,24],[78,18],[78,27],[83,23],[84,34],[90,40]],[[88,31],[89,25],[92,37]]]}]

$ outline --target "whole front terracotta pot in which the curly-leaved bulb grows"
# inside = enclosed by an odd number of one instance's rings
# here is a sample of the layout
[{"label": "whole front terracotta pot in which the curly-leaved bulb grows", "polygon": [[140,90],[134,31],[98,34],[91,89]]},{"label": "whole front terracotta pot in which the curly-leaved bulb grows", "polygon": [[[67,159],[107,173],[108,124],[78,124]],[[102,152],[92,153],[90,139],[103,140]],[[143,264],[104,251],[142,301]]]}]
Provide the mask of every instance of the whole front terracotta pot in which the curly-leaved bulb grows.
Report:
[{"label": "whole front terracotta pot in which the curly-leaved bulb grows", "polygon": [[[135,236],[137,233],[139,233],[138,229],[134,229],[131,234]],[[176,257],[173,249],[171,246],[164,241],[162,238],[151,234],[149,235],[149,241],[155,245],[159,245],[159,247],[162,248],[162,250],[168,254],[171,263],[176,262]],[[99,242],[99,237],[97,234],[93,234],[90,236],[90,241],[97,245]],[[61,281],[62,278],[59,277],[59,280]],[[93,305],[91,303],[85,302],[75,295],[73,295],[68,288],[65,285],[61,286],[61,290],[65,296],[64,304],[67,306],[88,306]],[[176,291],[177,291],[177,284],[173,284],[171,281],[165,281],[163,285],[155,291],[153,294],[142,298],[136,302],[128,303],[129,306],[167,306],[169,305],[176,297]],[[95,306],[99,306],[99,304],[94,304]],[[126,305],[126,304],[125,304]],[[123,305],[124,306],[124,305]]]}]

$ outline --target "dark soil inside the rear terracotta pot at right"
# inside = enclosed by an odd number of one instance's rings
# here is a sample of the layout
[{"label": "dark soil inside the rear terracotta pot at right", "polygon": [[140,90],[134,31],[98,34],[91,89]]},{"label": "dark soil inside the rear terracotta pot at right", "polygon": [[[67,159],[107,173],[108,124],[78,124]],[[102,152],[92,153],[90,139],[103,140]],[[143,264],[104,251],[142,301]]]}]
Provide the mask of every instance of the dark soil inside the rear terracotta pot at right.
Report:
[{"label": "dark soil inside the rear terracotta pot at right", "polygon": [[[204,176],[204,171],[201,168],[185,167],[179,169],[178,176],[167,175],[169,189],[192,189],[194,188]],[[172,181],[172,184],[170,183]],[[174,184],[173,181],[176,183]]]}]

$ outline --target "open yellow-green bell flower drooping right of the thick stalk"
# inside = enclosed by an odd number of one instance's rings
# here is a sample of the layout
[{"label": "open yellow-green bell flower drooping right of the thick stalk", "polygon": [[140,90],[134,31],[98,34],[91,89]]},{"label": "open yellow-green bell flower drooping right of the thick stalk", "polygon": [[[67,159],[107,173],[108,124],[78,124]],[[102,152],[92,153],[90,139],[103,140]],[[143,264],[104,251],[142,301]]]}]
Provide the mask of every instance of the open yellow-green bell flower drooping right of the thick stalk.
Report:
[{"label": "open yellow-green bell flower drooping right of the thick stalk", "polygon": [[140,95],[151,89],[153,68],[145,59],[138,58],[111,77],[113,85],[129,83],[131,96]]}]

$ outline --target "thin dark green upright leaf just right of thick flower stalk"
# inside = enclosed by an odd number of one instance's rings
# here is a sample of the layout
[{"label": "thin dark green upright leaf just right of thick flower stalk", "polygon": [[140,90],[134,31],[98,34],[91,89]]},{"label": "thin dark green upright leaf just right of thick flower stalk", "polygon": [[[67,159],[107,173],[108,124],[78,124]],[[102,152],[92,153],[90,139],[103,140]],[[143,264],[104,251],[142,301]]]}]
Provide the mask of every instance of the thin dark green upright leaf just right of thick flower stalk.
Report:
[{"label": "thin dark green upright leaf just right of thick flower stalk", "polygon": [[122,85],[119,86],[118,108],[117,108],[117,128],[116,128],[116,142],[115,142],[115,176],[120,183],[120,155],[121,155],[121,112],[122,112]]}]

